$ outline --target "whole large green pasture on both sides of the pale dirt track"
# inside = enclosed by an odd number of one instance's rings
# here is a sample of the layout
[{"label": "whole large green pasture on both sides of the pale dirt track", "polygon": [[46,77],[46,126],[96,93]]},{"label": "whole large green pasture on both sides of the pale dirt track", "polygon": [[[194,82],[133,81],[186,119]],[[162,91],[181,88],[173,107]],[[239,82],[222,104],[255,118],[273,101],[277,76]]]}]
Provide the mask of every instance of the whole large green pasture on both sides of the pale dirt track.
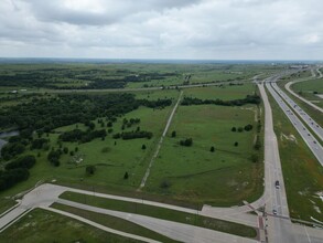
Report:
[{"label": "whole large green pasture on both sides of the pale dirt track", "polygon": [[[198,98],[244,98],[252,94],[255,86],[200,87],[185,89],[186,96]],[[172,98],[175,101],[179,91],[138,92],[137,98]],[[251,162],[251,156],[257,154],[261,161],[261,150],[254,147],[256,137],[256,118],[259,110],[256,106],[225,107],[215,105],[180,106],[169,134],[164,139],[159,158],[152,167],[147,188],[141,194],[136,189],[146,172],[148,162],[152,157],[157,142],[163,131],[165,122],[172,107],[151,109],[140,107],[125,117],[140,118],[138,125],[142,130],[153,133],[152,139],[121,140],[112,139],[108,135],[105,140],[94,139],[90,142],[62,142],[76,156],[62,155],[61,166],[55,168],[47,161],[44,150],[26,151],[37,157],[37,162],[31,169],[31,177],[1,192],[1,196],[14,196],[28,190],[40,181],[80,187],[87,190],[99,190],[109,193],[127,193],[130,197],[144,197],[150,200],[195,207],[196,203],[213,205],[241,204],[243,200],[256,200],[262,193],[261,178],[263,166],[261,162]],[[125,117],[119,117],[114,124],[114,133],[121,131]],[[97,129],[100,125],[94,120]],[[254,125],[251,131],[234,133],[232,127]],[[136,125],[137,127],[137,125]],[[126,128],[133,130],[136,127]],[[60,133],[75,128],[86,129],[83,124],[74,124],[55,129],[49,135],[50,147],[58,148]],[[171,138],[171,131],[176,130],[177,137]],[[46,135],[43,135],[46,138]],[[179,146],[180,139],[192,137],[192,148]],[[116,145],[115,145],[116,142]],[[238,142],[235,146],[235,142]],[[147,149],[141,147],[146,145]],[[215,152],[211,152],[211,146]],[[79,161],[79,162],[76,162]],[[176,161],[176,162],[173,162]],[[86,166],[94,165],[96,171],[93,176],[85,172]],[[129,178],[123,179],[128,172]],[[161,188],[161,183],[170,183],[169,188]],[[213,184],[213,187],[209,187]],[[224,187],[225,184],[225,187]],[[164,197],[168,196],[168,197]]]}]

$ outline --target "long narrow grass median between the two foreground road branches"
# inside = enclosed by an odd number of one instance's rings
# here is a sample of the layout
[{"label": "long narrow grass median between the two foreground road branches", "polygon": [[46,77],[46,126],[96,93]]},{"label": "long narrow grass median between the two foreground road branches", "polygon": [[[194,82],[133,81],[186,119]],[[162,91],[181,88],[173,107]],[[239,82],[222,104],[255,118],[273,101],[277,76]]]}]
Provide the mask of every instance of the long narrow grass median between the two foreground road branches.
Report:
[{"label": "long narrow grass median between the two foreground road branches", "polygon": [[170,220],[180,223],[186,223],[191,225],[207,228],[225,233],[236,234],[244,237],[256,237],[257,232],[254,228],[246,226],[238,223],[227,222],[213,218],[202,216],[197,214],[147,205],[143,203],[127,202],[114,199],[105,199],[95,196],[80,194],[76,192],[64,192],[60,196],[62,199],[75,201],[79,203],[89,204],[93,207],[142,214],[147,216],[153,216],[163,220]]}]

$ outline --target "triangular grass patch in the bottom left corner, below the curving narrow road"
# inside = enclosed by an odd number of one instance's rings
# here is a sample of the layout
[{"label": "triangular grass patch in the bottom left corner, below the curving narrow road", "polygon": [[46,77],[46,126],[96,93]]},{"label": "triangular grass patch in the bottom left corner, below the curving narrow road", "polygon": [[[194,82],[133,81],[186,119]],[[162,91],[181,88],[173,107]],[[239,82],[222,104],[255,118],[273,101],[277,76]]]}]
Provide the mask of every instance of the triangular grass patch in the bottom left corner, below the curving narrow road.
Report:
[{"label": "triangular grass patch in the bottom left corner, below the curving narrow road", "polygon": [[0,234],[0,242],[140,242],[60,215],[35,209]]}]

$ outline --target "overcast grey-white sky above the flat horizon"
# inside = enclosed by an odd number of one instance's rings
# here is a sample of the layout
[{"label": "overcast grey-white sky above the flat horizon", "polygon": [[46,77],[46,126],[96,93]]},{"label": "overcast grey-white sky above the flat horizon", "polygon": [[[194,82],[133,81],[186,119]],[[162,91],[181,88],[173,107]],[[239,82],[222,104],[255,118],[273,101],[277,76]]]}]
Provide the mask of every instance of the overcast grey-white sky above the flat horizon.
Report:
[{"label": "overcast grey-white sky above the flat horizon", "polygon": [[322,0],[1,0],[1,57],[323,60]]}]

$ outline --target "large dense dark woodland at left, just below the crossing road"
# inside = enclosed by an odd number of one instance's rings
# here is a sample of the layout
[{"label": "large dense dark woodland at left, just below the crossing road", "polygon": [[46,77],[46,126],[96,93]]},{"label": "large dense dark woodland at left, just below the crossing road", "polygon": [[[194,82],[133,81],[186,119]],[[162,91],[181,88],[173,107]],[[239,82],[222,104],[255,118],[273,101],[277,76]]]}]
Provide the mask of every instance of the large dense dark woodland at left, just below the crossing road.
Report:
[{"label": "large dense dark woodland at left, just below the crossing road", "polygon": [[171,99],[136,99],[133,94],[64,94],[54,97],[35,96],[29,103],[0,109],[0,127],[15,126],[26,136],[35,130],[52,129],[75,123],[88,123],[97,117],[116,117],[137,109],[171,105]]}]

